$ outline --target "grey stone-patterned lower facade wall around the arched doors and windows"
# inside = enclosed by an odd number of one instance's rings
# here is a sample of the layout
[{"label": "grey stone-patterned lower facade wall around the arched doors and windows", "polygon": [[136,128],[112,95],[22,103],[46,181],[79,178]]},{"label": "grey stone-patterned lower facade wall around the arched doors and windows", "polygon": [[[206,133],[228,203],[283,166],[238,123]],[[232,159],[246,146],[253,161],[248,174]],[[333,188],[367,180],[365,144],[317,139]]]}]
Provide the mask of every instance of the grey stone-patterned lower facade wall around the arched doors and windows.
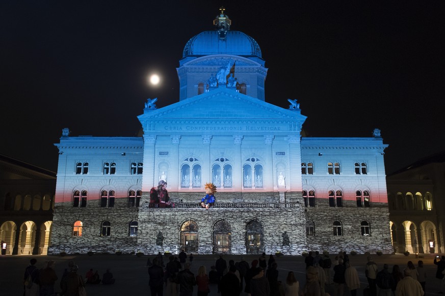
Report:
[{"label": "grey stone-patterned lower facade wall around the arched doors and windows", "polygon": [[[173,193],[173,196],[196,206],[200,196],[196,193]],[[242,197],[242,198],[241,198]],[[198,253],[212,254],[214,246],[214,225],[225,221],[230,227],[232,254],[246,253],[246,226],[258,221],[263,227],[263,247],[261,251],[299,255],[303,251],[340,250],[357,253],[365,251],[392,252],[389,237],[389,214],[383,208],[305,208],[301,192],[285,194],[286,203],[277,203],[279,194],[267,193],[221,193],[217,194],[219,206],[227,208],[149,208],[148,199],[143,196],[140,208],[127,208],[127,199],[116,199],[114,208],[72,208],[70,203],[56,204],[53,220],[53,235],[48,253],[87,253],[120,250],[123,253],[141,251],[145,254],[180,250],[181,227],[188,221],[198,225]],[[173,198],[173,201],[175,201]],[[178,201],[179,201],[178,200]],[[233,204],[252,202],[249,208],[232,208]],[[291,203],[292,202],[292,203]],[[298,203],[297,203],[298,202]],[[259,205],[264,206],[260,208]],[[186,204],[187,205],[187,204]],[[258,207],[256,207],[258,206]],[[287,207],[289,206],[289,207]],[[83,222],[82,236],[72,236],[73,223]],[[315,223],[315,235],[306,236],[306,220]],[[334,236],[332,222],[340,221],[344,235]],[[111,223],[111,235],[101,236],[101,223]],[[129,223],[138,221],[138,236],[130,237]],[[360,222],[368,221],[371,235],[361,235]],[[289,246],[283,246],[282,234],[289,235]],[[162,246],[156,245],[156,237],[162,232]]]}]

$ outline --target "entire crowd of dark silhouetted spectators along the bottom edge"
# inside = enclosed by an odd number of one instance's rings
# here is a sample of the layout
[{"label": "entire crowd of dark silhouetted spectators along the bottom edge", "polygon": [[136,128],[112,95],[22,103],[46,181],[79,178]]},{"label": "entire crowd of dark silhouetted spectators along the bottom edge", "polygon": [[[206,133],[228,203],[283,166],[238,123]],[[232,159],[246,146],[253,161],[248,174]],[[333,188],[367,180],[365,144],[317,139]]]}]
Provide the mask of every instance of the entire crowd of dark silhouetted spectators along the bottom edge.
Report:
[{"label": "entire crowd of dark silhouetted spectators along the bottom edge", "polygon": [[[271,254],[269,258],[263,253],[258,259],[250,263],[241,257],[235,262],[219,255],[210,272],[204,265],[197,269],[197,274],[190,271],[193,263],[193,254],[187,255],[182,250],[176,257],[170,255],[164,264],[163,256],[159,253],[152,260],[147,260],[149,287],[152,296],[207,296],[211,288],[217,289],[221,296],[344,296],[357,295],[360,288],[360,279],[357,270],[353,267],[346,252],[335,256],[334,260],[328,253],[320,254],[309,252],[305,257],[306,281],[300,286],[293,271],[286,271],[285,282],[278,280],[278,263]],[[30,265],[25,269],[24,295],[25,296],[53,296],[54,285],[58,276],[54,270],[55,262],[49,260],[45,267],[38,269],[37,260],[31,259]],[[438,293],[442,293],[445,275],[445,256],[436,256],[433,262],[437,266],[436,279]],[[69,261],[60,281],[65,296],[82,296],[86,284],[114,284],[115,279],[111,269],[107,269],[100,279],[98,271],[90,269],[85,280],[77,274],[78,267]],[[331,271],[333,272],[331,274]],[[426,270],[422,260],[415,266],[407,261],[406,267],[388,264],[380,268],[371,256],[367,257],[364,265],[364,276],[368,285],[363,289],[363,296],[424,296],[426,283]],[[196,290],[194,292],[194,287]],[[431,289],[434,289],[431,287]],[[346,293],[349,291],[349,293]]]}]

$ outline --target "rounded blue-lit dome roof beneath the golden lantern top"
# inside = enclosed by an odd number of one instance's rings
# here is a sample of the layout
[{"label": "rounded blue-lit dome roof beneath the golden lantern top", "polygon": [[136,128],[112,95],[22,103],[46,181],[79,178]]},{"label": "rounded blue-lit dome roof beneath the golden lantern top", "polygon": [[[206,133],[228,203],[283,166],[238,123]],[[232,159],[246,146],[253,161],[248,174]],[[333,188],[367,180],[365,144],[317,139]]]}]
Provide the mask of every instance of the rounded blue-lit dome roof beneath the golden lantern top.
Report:
[{"label": "rounded blue-lit dome roof beneath the golden lantern top", "polygon": [[261,49],[252,37],[239,31],[204,31],[193,36],[184,47],[182,57],[210,54],[257,56]]}]

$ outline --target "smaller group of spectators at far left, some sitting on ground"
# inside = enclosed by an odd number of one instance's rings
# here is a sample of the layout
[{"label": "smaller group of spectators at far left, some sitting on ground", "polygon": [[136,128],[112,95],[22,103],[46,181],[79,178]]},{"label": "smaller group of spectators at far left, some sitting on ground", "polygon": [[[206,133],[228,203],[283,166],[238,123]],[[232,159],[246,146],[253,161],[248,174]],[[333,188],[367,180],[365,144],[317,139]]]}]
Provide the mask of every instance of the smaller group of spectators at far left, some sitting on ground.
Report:
[{"label": "smaller group of spectators at far left, some sitting on ground", "polygon": [[78,274],[78,266],[74,261],[68,262],[68,268],[63,271],[60,279],[61,292],[55,291],[55,283],[59,279],[55,271],[55,261],[49,260],[45,267],[38,269],[36,267],[37,259],[32,258],[30,265],[25,269],[23,276],[23,294],[25,296],[83,296],[86,295],[86,284],[111,285],[115,283],[111,269],[108,268],[100,279],[99,272],[93,272],[90,269],[85,275]]}]

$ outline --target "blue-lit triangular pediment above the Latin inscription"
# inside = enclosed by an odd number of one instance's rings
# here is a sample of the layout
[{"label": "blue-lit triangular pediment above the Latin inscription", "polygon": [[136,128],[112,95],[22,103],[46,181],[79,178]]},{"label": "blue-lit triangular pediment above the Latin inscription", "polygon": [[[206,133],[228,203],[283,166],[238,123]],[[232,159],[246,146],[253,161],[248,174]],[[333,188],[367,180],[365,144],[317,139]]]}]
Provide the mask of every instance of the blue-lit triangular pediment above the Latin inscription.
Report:
[{"label": "blue-lit triangular pediment above the Latin inscription", "polygon": [[284,109],[228,88],[208,93],[169,106],[149,110],[139,120],[214,119],[214,120],[285,120],[304,121],[299,110]]}]

